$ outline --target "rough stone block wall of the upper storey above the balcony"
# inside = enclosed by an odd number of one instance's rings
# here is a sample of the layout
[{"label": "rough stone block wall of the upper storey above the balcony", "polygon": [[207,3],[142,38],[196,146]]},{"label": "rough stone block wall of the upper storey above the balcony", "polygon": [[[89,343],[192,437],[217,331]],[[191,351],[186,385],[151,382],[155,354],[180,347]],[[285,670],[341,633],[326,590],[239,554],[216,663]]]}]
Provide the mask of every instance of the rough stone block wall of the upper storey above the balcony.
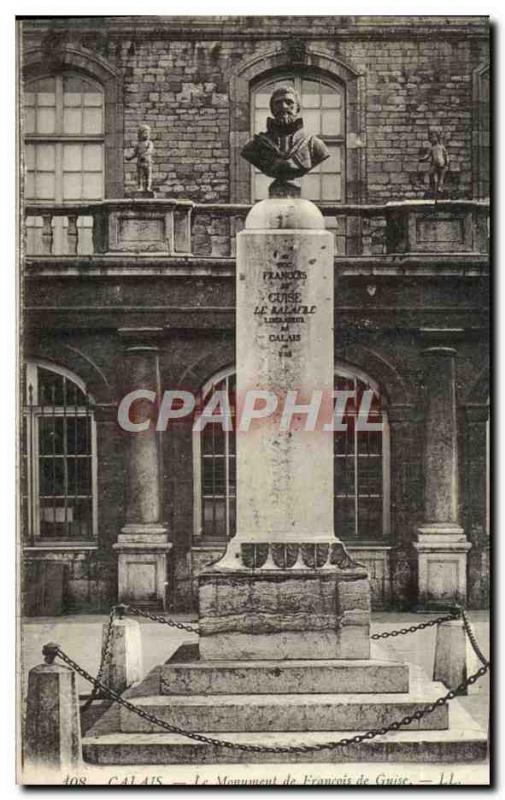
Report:
[{"label": "rough stone block wall of the upper storey above the balcony", "polygon": [[[261,69],[265,75],[309,74],[316,64],[315,74],[322,74],[323,63],[326,70],[334,65],[336,80],[340,65],[359,76],[360,95],[347,115],[348,134],[357,133],[348,135],[347,144],[366,153],[359,176],[363,199],[423,196],[427,166],[419,156],[432,127],[441,131],[450,154],[448,188],[457,197],[471,194],[473,79],[489,60],[485,18],[468,19],[464,27],[456,17],[417,27],[415,18],[410,25],[402,18],[371,25],[370,18],[330,17],[316,24],[314,18],[267,17],[252,26],[207,18],[196,29],[163,20],[149,30],[147,23],[129,24],[127,18],[104,18],[98,29],[86,20],[52,21],[49,32],[47,22],[25,23],[27,50],[52,46],[57,59],[58,48],[74,48],[110,64],[121,84],[124,113],[116,147],[122,153],[132,146],[139,122],[151,126],[159,196],[226,202],[236,194],[230,185],[238,180],[233,150],[249,128],[249,96],[247,84],[239,84],[238,94],[233,87],[251,63],[258,64],[256,76]],[[246,119],[237,119],[237,106]],[[353,115],[359,117],[356,125]],[[134,163],[124,168],[129,190],[135,186]]]}]

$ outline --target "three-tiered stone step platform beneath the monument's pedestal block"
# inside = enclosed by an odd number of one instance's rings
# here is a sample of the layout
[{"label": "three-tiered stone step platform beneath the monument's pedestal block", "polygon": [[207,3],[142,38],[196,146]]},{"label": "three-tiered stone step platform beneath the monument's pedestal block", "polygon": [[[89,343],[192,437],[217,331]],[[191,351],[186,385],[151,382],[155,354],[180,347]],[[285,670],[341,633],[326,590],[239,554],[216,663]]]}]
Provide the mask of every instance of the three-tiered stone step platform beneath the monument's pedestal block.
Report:
[{"label": "three-tiered stone step platform beneath the monument's pedestal block", "polygon": [[[386,659],[199,661],[183,646],[124,697],[166,722],[239,744],[306,746],[387,726],[446,691]],[[180,659],[183,659],[182,661]],[[187,659],[187,660],[186,660]],[[250,753],[163,732],[114,704],[83,740],[95,764],[480,760],[486,734],[453,700],[399,731],[312,753]]]}]

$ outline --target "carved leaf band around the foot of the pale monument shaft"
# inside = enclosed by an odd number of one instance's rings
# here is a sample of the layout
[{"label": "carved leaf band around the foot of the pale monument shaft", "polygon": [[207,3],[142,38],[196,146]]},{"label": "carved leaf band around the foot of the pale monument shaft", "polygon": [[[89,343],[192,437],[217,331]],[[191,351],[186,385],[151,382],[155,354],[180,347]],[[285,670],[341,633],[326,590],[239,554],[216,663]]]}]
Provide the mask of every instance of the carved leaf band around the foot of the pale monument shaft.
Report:
[{"label": "carved leaf band around the foot of the pale monument shaft", "polygon": [[321,569],[364,568],[348,554],[342,542],[307,543],[244,543],[240,545],[242,566],[248,569]]}]

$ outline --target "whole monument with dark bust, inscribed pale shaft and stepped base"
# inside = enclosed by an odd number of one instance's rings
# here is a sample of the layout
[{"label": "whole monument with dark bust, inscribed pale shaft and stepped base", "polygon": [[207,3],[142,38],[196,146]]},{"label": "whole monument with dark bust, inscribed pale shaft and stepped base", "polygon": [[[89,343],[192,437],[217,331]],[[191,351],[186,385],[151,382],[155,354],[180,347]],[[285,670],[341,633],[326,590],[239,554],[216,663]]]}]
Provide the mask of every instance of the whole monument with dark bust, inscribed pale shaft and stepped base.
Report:
[{"label": "whole monument with dark bust, inscribed pale shaft and stepped base", "polygon": [[[325,148],[304,134],[292,89],[275,92],[271,108],[268,131],[243,150],[256,166],[265,158],[274,183],[238,235],[237,533],[199,576],[198,642],[126,690],[136,708],[111,706],[87,732],[84,758],[129,766],[484,758],[486,735],[457,701],[450,727],[447,705],[434,704],[440,683],[376,644],[370,658],[368,575],[333,529],[332,426],[297,422],[313,414],[314,397],[333,393],[332,235],[293,183]],[[282,416],[257,414],[241,430],[240,406],[254,392],[275,392]],[[439,661],[445,679],[451,665],[445,653]],[[406,714],[400,730],[375,735]],[[162,731],[160,720],[178,731]],[[349,746],[326,744],[342,738]]]}]

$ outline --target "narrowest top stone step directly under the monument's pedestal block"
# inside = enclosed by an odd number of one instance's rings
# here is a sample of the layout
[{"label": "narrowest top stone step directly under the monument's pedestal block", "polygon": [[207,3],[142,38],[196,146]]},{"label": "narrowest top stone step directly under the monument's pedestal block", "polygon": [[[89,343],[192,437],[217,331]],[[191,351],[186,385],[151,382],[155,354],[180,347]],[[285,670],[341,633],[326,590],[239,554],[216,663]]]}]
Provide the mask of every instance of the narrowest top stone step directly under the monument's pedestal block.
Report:
[{"label": "narrowest top stone step directly under the monument's pedestal block", "polygon": [[336,660],[169,662],[161,667],[159,687],[167,695],[408,691],[408,664]]}]

